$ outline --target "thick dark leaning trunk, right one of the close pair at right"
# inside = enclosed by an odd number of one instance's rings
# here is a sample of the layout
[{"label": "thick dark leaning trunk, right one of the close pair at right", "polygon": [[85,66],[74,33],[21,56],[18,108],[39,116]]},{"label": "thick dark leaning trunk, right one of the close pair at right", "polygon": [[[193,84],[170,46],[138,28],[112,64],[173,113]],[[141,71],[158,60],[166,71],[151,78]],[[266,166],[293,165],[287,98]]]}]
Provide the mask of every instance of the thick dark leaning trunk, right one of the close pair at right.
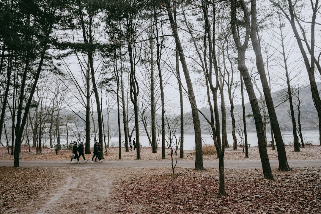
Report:
[{"label": "thick dark leaning trunk, right one of the close pair at right", "polygon": [[[265,96],[266,106],[269,111],[270,121],[273,128],[273,133],[276,142],[276,148],[278,152],[278,159],[279,159],[279,169],[280,171],[291,171],[289,167],[288,160],[286,158],[285,147],[282,139],[282,134],[279,127],[279,122],[275,113],[273,100],[271,96],[271,91],[269,84],[266,79],[265,68],[264,68],[264,61],[261,53],[261,46],[257,39],[257,20],[256,20],[256,0],[251,0],[251,41],[252,47],[255,52],[256,56],[256,67],[260,74],[260,79],[263,87],[263,92]],[[245,79],[245,78],[244,78]]]}]

